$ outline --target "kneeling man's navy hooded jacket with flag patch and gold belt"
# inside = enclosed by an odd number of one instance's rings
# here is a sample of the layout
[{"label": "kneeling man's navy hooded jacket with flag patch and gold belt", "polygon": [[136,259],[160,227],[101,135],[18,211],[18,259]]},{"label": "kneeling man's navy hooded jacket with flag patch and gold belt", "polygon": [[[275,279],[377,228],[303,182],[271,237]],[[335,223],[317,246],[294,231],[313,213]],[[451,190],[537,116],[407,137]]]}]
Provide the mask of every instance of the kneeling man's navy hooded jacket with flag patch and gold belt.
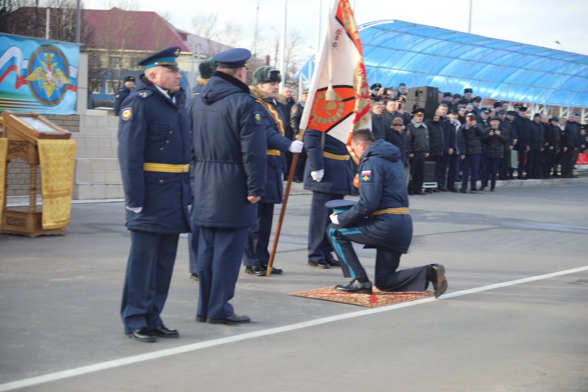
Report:
[{"label": "kneeling man's navy hooded jacket with flag patch and gold belt", "polygon": [[339,225],[359,227],[379,246],[406,253],[412,240],[410,215],[382,214],[378,210],[408,207],[406,175],[400,150],[376,140],[363,152],[359,163],[359,202],[340,213]]}]

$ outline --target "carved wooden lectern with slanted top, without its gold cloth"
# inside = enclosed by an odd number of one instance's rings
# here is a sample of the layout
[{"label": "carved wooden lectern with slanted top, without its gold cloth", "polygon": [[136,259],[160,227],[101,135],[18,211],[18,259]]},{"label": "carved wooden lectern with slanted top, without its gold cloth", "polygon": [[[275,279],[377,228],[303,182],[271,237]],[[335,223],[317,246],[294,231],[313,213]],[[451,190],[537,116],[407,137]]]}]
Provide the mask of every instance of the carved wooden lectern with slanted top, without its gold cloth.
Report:
[{"label": "carved wooden lectern with slanted top, without its gold cloth", "polygon": [[6,207],[6,197],[2,203],[2,222],[0,233],[22,234],[36,237],[42,234],[65,234],[65,227],[59,229],[43,229],[42,208],[36,206],[36,179],[39,166],[38,139],[69,139],[71,133],[59,128],[54,123],[37,113],[2,112],[0,128],[4,130],[4,137],[8,139],[6,162],[14,158],[21,158],[31,167],[29,177],[29,206]]}]

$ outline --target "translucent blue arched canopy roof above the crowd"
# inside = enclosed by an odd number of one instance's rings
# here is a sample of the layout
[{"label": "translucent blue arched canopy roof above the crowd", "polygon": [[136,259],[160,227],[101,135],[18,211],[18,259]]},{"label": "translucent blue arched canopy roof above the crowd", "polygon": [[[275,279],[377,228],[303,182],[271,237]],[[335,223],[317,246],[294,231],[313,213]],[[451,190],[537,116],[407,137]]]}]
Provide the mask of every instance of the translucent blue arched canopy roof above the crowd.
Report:
[{"label": "translucent blue arched canopy roof above the crowd", "polygon": [[472,88],[483,98],[588,108],[588,56],[403,21],[358,29],[370,84]]}]

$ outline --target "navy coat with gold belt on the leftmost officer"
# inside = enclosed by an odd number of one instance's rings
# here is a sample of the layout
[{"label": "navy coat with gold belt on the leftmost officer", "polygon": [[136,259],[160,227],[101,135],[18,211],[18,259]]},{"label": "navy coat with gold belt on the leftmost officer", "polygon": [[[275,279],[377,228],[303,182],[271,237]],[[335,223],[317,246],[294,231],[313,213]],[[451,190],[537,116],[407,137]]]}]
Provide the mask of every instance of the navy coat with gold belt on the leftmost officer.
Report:
[{"label": "navy coat with gold belt on the leftmost officer", "polygon": [[182,90],[172,99],[141,75],[121,106],[118,160],[125,189],[126,227],[143,232],[178,234],[190,231],[192,203],[187,172],[143,170],[144,163],[185,165],[190,161],[190,129]]}]

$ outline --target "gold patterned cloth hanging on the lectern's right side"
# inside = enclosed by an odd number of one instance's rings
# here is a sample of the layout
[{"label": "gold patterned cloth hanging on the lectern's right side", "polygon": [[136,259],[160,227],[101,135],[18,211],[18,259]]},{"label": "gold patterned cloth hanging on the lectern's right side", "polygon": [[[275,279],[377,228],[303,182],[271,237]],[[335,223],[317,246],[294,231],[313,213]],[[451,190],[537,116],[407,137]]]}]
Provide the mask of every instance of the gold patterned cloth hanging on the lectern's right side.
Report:
[{"label": "gold patterned cloth hanging on the lectern's right side", "polygon": [[38,139],[43,229],[68,225],[74,187],[75,140]]}]

